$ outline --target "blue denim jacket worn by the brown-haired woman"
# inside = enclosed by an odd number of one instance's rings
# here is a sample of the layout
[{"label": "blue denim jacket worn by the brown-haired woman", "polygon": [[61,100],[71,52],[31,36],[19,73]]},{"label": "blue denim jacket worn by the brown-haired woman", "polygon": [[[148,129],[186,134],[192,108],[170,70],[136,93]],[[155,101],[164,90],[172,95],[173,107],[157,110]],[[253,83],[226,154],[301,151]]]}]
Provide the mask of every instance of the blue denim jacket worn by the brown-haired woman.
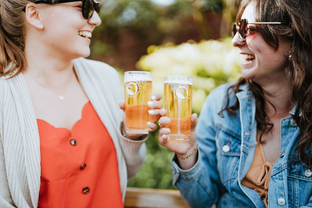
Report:
[{"label": "blue denim jacket worn by the brown-haired woman", "polygon": [[[208,95],[196,127],[198,160],[189,170],[178,166],[173,156],[173,185],[192,207],[265,208],[259,194],[241,180],[246,176],[254,157],[256,142],[256,104],[247,85],[234,94],[229,91],[229,106],[236,99],[240,107],[236,116],[223,111],[227,83]],[[290,111],[294,115],[296,106]],[[300,111],[301,115],[301,111]],[[300,132],[292,116],[280,120],[280,156],[274,164],[269,184],[269,208],[312,207],[312,172],[300,164],[294,154]],[[228,147],[224,148],[224,146]]]}]

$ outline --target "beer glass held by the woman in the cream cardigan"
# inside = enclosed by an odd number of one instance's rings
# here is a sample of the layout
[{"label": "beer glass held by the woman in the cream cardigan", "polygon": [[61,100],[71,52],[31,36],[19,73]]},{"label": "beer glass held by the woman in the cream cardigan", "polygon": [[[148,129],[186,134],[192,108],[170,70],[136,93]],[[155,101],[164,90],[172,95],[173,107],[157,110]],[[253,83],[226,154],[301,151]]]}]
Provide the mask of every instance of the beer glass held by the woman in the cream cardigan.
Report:
[{"label": "beer glass held by the woman in the cream cardigan", "polygon": [[124,95],[127,133],[148,134],[149,106],[152,96],[152,73],[124,72]]}]

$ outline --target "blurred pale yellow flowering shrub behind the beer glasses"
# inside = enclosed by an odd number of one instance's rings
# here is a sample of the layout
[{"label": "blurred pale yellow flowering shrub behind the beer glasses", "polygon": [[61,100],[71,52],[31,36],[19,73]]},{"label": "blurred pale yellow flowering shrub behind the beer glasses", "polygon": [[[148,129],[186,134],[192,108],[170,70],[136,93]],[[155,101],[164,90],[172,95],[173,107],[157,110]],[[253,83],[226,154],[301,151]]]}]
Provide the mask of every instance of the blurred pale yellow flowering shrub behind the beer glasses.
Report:
[{"label": "blurred pale yellow flowering shrub behind the beer glasses", "polygon": [[153,91],[163,93],[164,77],[187,75],[193,78],[193,112],[198,113],[209,92],[218,85],[240,77],[240,59],[231,38],[182,43],[177,46],[150,46],[137,67],[153,73]]}]

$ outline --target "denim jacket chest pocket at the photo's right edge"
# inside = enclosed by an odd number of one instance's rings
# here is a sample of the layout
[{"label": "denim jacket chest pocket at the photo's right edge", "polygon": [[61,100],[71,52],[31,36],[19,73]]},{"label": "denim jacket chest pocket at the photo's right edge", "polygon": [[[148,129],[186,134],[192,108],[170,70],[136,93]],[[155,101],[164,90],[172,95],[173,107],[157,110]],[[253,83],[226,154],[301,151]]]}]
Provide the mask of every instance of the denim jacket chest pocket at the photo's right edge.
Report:
[{"label": "denim jacket chest pocket at the photo's right edge", "polygon": [[[306,206],[312,196],[312,171],[300,164],[298,157],[288,161],[288,201],[290,207]],[[302,194],[304,190],[305,194]]]}]

